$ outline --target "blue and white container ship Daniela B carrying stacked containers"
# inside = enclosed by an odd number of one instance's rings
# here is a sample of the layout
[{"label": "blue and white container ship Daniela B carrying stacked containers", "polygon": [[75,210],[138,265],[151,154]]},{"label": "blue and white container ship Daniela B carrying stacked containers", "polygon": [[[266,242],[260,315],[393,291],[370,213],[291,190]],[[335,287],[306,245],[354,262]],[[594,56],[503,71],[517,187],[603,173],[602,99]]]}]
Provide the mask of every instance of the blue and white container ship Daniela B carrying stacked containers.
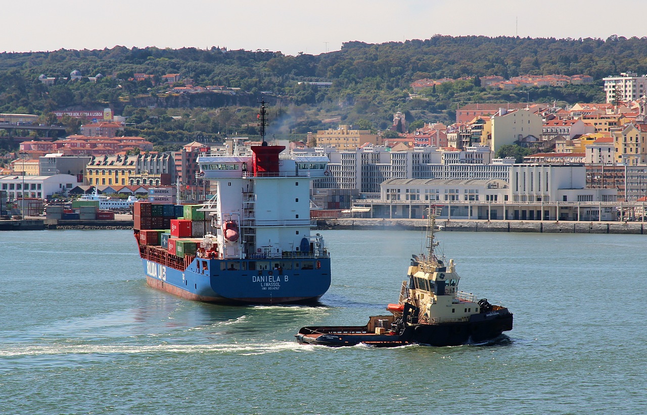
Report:
[{"label": "blue and white container ship Daniela B carrying stacked containers", "polygon": [[[261,107],[261,136],[265,111]],[[326,156],[283,157],[282,145],[199,156],[211,200],[136,202],[135,238],[149,286],[225,304],[316,302],[330,287],[330,255],[311,235],[310,181]]]}]

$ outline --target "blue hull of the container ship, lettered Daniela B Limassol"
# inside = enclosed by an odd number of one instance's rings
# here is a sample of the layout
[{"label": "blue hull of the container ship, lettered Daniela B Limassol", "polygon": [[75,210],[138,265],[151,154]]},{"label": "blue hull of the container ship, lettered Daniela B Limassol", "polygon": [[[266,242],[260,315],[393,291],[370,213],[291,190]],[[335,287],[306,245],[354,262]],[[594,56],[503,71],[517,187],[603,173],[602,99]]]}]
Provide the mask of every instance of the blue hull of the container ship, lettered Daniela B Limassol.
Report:
[{"label": "blue hull of the container ship, lettered Daniela B Limassol", "polygon": [[[329,258],[195,258],[184,271],[144,258],[142,264],[149,286],[207,303],[310,303],[317,301],[331,283]],[[236,270],[227,269],[232,264],[236,264]]]}]

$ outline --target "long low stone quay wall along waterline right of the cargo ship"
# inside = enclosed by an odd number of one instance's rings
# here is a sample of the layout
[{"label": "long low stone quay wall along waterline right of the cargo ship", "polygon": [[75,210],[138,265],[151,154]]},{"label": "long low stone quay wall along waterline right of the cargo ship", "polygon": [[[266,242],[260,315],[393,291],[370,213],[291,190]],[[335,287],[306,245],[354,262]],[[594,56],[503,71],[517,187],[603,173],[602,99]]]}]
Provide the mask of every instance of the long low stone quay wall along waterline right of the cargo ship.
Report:
[{"label": "long low stone quay wall along waterline right of the cargo ship", "polygon": [[[319,219],[317,229],[421,230],[426,219]],[[645,235],[644,222],[564,222],[522,220],[437,220],[443,231],[538,233],[634,233]]]}]

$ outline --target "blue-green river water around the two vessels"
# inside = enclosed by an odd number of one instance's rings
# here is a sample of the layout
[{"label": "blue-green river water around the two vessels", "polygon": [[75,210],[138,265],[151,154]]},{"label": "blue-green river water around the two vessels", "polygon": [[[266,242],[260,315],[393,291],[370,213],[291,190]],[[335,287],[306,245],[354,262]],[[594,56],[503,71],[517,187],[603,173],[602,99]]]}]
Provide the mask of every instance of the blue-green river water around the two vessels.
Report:
[{"label": "blue-green river water around the two vessels", "polygon": [[0,232],[0,413],[616,414],[647,410],[641,235],[439,233],[461,289],[514,313],[492,346],[325,348],[406,277],[416,231],[323,231],[322,306],[194,303],[146,285],[131,231]]}]

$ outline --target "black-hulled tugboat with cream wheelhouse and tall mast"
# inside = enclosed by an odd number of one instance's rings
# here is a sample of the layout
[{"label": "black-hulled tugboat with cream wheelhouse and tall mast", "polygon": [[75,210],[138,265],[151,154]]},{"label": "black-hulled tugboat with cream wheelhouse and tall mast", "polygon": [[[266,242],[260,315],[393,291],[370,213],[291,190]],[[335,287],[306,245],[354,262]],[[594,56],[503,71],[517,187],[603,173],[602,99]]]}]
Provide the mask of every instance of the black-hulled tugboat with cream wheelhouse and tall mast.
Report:
[{"label": "black-hulled tugboat with cream wheelhouse and tall mast", "polygon": [[402,281],[389,315],[373,315],[366,326],[308,326],[295,335],[308,345],[395,347],[459,346],[490,343],[512,330],[512,313],[487,299],[458,290],[455,263],[435,255],[435,206],[430,207],[426,254],[412,255],[408,281]]}]

